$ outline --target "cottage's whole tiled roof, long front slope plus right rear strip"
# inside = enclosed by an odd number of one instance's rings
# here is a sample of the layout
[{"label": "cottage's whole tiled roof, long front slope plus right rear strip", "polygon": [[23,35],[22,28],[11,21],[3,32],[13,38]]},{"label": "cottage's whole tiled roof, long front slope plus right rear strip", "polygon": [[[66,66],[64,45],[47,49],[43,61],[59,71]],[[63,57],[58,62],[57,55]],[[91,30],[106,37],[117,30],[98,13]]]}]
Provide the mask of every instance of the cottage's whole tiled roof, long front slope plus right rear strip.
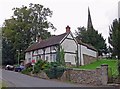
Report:
[{"label": "cottage's whole tiled roof, long front slope plus right rear strip", "polygon": [[[49,47],[49,46],[52,46],[52,45],[60,44],[60,41],[68,34],[69,33],[64,33],[64,34],[61,34],[61,35],[50,37],[46,40],[42,40],[41,42],[36,42],[33,45],[31,45],[30,47],[28,47],[25,50],[25,52],[29,52],[29,51],[33,51],[33,50],[36,50],[36,49],[41,49],[41,48]],[[76,39],[76,40],[77,40],[78,44],[84,45],[89,49],[97,51],[92,45],[88,45],[86,43],[83,43],[82,41],[80,41],[78,39]]]}]

